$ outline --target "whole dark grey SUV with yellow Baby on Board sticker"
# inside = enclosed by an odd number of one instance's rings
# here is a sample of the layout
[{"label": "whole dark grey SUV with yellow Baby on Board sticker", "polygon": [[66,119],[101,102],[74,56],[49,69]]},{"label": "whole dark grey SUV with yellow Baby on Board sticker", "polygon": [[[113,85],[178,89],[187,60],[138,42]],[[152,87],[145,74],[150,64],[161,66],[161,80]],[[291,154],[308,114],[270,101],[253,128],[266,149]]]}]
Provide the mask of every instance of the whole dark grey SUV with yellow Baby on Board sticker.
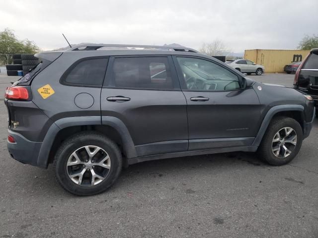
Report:
[{"label": "whole dark grey SUV with yellow Baby on Board sticker", "polygon": [[315,116],[310,96],[189,48],[89,44],[36,57],[6,90],[7,148],[22,163],[52,163],[78,195],[102,192],[122,167],[148,160],[257,151],[283,165]]}]

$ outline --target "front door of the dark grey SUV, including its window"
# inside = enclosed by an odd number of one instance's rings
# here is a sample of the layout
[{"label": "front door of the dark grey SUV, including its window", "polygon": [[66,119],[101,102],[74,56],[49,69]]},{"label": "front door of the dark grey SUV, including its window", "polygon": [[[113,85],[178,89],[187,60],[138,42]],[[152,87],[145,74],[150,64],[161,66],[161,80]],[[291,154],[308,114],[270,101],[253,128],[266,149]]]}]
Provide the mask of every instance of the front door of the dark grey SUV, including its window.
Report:
[{"label": "front door of the dark grey SUV, including its window", "polygon": [[174,57],[187,100],[189,150],[248,146],[259,127],[259,100],[234,70],[213,60]]}]

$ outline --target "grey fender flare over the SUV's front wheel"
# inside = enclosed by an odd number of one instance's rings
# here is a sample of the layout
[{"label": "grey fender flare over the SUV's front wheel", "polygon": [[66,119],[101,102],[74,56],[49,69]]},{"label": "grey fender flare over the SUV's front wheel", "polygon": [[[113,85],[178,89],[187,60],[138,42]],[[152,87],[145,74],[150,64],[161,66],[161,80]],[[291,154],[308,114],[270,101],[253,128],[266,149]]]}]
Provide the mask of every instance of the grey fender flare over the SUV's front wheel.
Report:
[{"label": "grey fender flare over the SUV's front wheel", "polygon": [[270,110],[268,110],[266,116],[263,119],[263,122],[258,130],[258,133],[252,143],[252,146],[259,146],[260,142],[263,139],[263,136],[267,130],[267,127],[271,121],[271,119],[274,117],[276,113],[279,112],[286,112],[286,111],[304,111],[304,106],[302,105],[278,105],[272,107]]}]

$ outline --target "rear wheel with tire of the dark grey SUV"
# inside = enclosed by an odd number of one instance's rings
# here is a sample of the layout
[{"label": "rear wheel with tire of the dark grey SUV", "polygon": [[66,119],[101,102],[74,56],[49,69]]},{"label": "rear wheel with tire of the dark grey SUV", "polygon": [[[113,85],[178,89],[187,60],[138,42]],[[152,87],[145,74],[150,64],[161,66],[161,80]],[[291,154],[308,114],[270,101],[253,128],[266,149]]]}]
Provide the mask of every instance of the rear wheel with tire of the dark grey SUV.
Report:
[{"label": "rear wheel with tire of the dark grey SUV", "polygon": [[106,136],[80,132],[62,143],[54,166],[55,177],[65,190],[86,196],[103,192],[115,182],[122,157],[118,146]]}]

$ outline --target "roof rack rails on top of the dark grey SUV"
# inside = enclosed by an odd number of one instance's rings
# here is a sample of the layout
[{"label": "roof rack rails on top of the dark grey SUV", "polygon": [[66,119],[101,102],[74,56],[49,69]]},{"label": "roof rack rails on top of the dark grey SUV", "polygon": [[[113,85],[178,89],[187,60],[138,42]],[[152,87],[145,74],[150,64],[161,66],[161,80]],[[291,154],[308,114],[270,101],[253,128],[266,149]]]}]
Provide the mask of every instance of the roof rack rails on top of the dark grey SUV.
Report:
[{"label": "roof rack rails on top of the dark grey SUV", "polygon": [[[68,49],[67,51],[96,51],[103,47],[110,47],[114,50],[115,48],[121,48],[122,50],[128,50],[126,48],[144,48],[144,50],[153,50],[153,49],[161,49],[161,50],[173,50],[173,51],[183,51],[183,52],[192,52],[199,53],[198,51],[187,48],[187,47],[174,47],[174,46],[148,46],[148,45],[116,45],[116,44],[80,44],[75,47]],[[82,48],[82,49],[81,49]]]}]

